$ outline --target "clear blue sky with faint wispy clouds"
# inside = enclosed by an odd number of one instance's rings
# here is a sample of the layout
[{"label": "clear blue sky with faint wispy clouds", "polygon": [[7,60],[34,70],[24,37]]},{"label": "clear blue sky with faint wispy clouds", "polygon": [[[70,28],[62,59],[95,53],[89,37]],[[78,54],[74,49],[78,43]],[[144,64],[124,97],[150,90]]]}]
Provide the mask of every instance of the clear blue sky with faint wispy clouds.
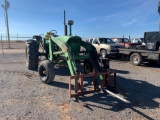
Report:
[{"label": "clear blue sky with faint wispy clouds", "polygon": [[[143,37],[159,29],[159,0],[8,0],[10,34],[31,36],[57,30],[64,34],[66,19],[74,20],[73,34],[87,37]],[[4,4],[4,0],[0,0]],[[0,8],[0,33],[5,34]]]}]

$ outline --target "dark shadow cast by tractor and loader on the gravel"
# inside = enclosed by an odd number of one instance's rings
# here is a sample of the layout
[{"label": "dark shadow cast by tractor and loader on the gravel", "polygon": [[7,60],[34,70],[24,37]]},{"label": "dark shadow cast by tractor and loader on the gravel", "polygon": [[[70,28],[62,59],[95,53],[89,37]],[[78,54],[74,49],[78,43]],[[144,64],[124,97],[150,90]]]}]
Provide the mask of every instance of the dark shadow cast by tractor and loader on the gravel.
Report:
[{"label": "dark shadow cast by tractor and loader on the gravel", "polygon": [[154,100],[160,98],[159,86],[155,86],[142,80],[125,79],[117,76],[116,90],[120,95],[123,95],[129,103],[124,103],[121,100],[103,92],[94,93],[94,95],[86,94],[83,97],[80,97],[79,100],[86,103],[86,107],[91,111],[94,111],[94,107],[114,112],[119,112],[129,108],[146,119],[153,120],[153,118],[142,113],[136,108],[159,108],[160,103]]}]

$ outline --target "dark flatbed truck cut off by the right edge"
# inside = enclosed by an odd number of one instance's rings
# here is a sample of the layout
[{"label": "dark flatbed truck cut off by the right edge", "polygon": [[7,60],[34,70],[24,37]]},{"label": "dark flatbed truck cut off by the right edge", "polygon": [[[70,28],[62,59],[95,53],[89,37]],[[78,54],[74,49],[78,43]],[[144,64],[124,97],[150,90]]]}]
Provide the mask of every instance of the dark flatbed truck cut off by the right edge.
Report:
[{"label": "dark flatbed truck cut off by the right edge", "polygon": [[145,32],[145,45],[137,45],[136,48],[119,49],[119,53],[130,57],[133,65],[141,65],[144,61],[156,63],[160,61],[160,32]]}]

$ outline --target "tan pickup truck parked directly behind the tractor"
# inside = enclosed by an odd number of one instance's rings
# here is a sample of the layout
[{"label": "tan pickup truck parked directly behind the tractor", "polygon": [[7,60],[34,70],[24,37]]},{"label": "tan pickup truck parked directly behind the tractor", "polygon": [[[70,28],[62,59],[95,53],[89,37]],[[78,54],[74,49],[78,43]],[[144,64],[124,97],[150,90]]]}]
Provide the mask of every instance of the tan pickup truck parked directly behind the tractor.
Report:
[{"label": "tan pickup truck parked directly behind the tractor", "polygon": [[110,38],[90,38],[86,42],[91,43],[102,57],[119,54],[118,49],[124,47],[123,45],[114,43]]}]

